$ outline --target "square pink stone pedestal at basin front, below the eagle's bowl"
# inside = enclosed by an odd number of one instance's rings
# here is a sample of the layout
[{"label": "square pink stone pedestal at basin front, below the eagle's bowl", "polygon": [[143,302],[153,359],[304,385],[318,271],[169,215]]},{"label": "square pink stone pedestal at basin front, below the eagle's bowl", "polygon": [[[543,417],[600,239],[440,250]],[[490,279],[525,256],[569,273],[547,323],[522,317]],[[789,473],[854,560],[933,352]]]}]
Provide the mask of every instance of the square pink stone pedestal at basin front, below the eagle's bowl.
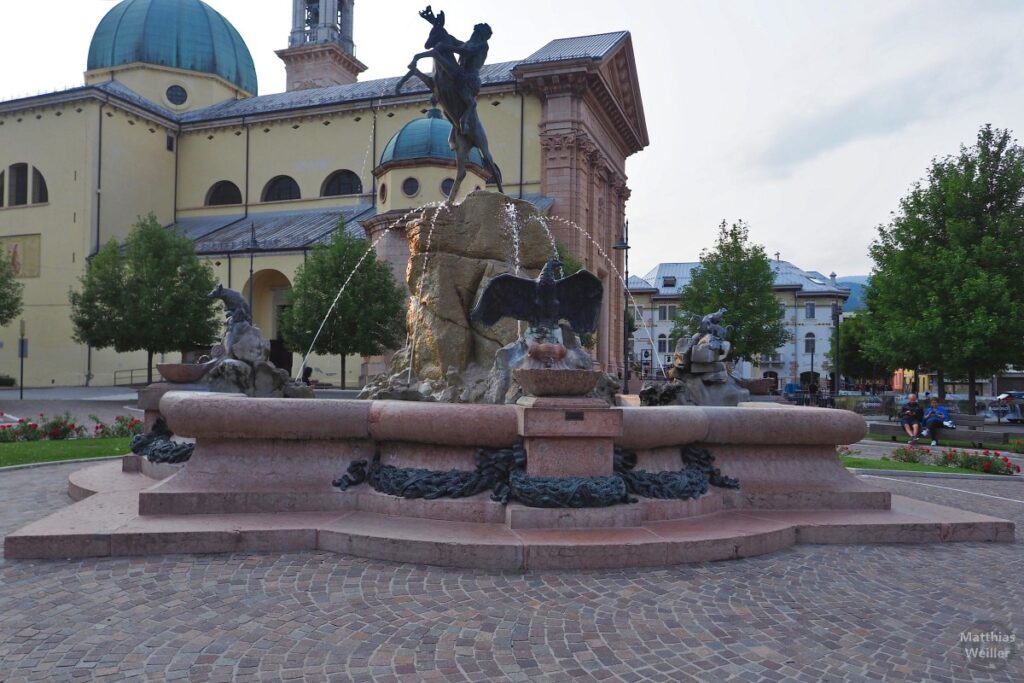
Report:
[{"label": "square pink stone pedestal at basin front, below the eagle's bowl", "polygon": [[535,477],[609,476],[622,411],[600,398],[523,397],[516,403],[526,473]]}]

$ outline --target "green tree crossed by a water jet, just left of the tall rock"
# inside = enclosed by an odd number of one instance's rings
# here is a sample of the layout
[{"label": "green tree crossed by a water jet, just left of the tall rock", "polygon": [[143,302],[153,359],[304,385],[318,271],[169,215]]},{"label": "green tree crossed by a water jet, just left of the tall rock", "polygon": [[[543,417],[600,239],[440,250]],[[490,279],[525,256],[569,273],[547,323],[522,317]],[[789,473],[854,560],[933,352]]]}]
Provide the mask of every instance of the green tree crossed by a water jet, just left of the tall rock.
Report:
[{"label": "green tree crossed by a water jet, just left of the tall rock", "polygon": [[406,334],[406,288],[366,240],[345,231],[342,221],[331,244],[314,247],[296,270],[289,296],[291,306],[281,317],[285,341],[302,352],[311,345],[317,353],[341,355],[342,388],[346,355],[378,355],[397,348]]}]

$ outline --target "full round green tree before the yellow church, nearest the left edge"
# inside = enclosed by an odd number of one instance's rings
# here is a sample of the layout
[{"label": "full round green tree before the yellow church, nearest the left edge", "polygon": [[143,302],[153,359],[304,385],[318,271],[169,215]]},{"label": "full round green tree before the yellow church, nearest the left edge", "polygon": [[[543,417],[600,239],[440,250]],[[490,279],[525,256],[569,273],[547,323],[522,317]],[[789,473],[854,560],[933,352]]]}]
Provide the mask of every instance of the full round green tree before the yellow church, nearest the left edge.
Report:
[{"label": "full round green tree before the yellow church, nearest the left edge", "polygon": [[93,256],[79,291],[70,293],[75,341],[118,352],[153,356],[210,345],[219,331],[207,294],[213,271],[201,263],[188,238],[140,218],[122,249],[112,240]]}]

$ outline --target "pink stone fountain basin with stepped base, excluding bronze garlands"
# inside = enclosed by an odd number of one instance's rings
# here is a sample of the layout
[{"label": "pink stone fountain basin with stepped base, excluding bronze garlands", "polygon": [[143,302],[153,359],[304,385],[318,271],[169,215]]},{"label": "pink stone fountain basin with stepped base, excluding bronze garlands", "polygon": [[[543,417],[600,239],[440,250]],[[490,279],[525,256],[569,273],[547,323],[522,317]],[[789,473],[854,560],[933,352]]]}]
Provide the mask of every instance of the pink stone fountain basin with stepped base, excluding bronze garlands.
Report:
[{"label": "pink stone fountain basin with stepped base, excluding bronze garlands", "polygon": [[[524,424],[531,415],[524,411],[558,401],[564,410],[552,407],[539,423]],[[853,413],[764,403],[591,410],[579,398],[539,402],[297,401],[171,391],[161,412],[178,435],[197,441],[184,467],[159,482],[122,471],[127,461],[75,473],[72,488],[94,495],[8,535],[4,555],[315,550],[525,570],[736,559],[797,543],[1014,541],[1013,522],[902,499],[853,476],[836,456],[837,443],[866,431]],[[573,431],[597,433],[615,412],[614,444],[633,451],[639,467],[678,469],[680,445],[693,444],[710,449],[740,488],[566,510],[503,507],[486,492],[410,500],[366,484],[346,492],[331,485],[353,460],[375,454],[396,467],[472,470],[477,449],[520,442],[524,428],[557,440],[572,416]]]}]

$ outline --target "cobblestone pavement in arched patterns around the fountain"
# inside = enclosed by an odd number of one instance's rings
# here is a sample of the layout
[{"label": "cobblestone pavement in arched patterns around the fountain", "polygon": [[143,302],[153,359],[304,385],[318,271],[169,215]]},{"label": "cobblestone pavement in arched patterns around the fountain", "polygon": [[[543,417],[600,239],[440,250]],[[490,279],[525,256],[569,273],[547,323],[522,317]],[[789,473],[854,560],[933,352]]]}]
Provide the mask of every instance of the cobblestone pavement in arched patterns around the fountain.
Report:
[{"label": "cobblestone pavement in arched patterns around the fountain", "polygon": [[[0,474],[0,532],[67,504],[75,467]],[[1024,529],[1020,482],[870,481]],[[1020,650],[972,670],[958,634],[1024,638],[1022,581],[1022,543],[526,574],[329,553],[0,560],[0,681],[1021,681]]]}]

